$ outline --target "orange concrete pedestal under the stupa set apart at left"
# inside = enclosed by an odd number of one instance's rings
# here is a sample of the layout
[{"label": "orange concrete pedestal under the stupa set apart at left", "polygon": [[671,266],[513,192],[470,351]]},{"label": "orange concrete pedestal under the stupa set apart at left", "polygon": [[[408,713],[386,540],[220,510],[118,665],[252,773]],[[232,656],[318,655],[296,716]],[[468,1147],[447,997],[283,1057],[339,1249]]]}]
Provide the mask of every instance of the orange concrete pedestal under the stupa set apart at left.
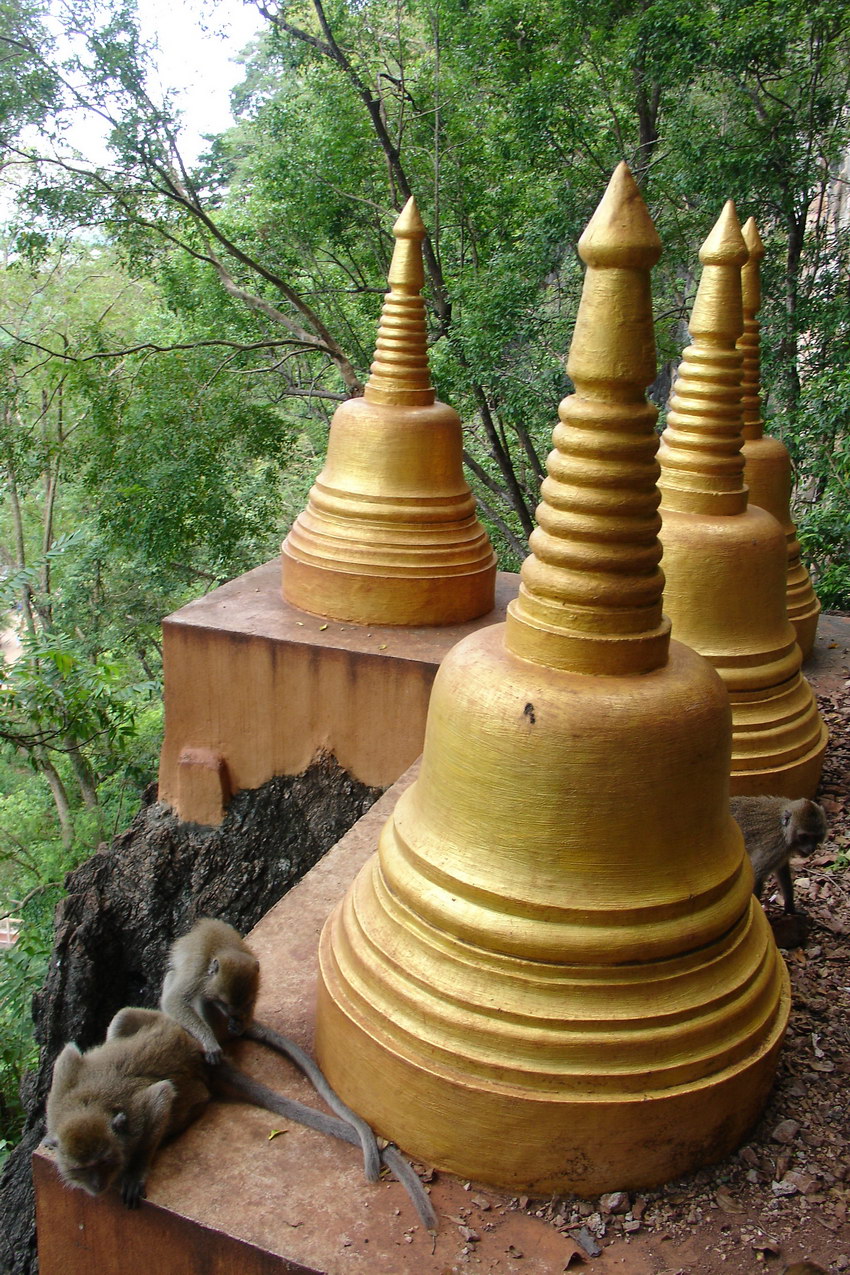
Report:
[{"label": "orange concrete pedestal under the stupa set apart at left", "polygon": [[519,576],[500,572],[496,607],[461,625],[358,626],[284,602],[274,558],[163,620],[166,737],[159,799],[218,825],[231,796],[298,775],[333,754],[385,788],[422,752],[443,655],[505,618]]}]

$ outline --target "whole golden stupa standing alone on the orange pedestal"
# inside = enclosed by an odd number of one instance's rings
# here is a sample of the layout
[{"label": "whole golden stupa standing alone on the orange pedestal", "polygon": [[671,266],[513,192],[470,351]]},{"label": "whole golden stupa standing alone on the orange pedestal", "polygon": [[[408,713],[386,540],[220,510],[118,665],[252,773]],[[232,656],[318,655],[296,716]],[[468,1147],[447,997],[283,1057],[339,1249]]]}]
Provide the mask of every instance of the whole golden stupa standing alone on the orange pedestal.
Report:
[{"label": "whole golden stupa standing alone on the orange pedestal", "polygon": [[463,623],[493,609],[496,555],[464,478],[460,417],[431,385],[413,199],[393,233],[371,375],[334,413],[324,469],[283,542],[283,595],[361,625]]}]

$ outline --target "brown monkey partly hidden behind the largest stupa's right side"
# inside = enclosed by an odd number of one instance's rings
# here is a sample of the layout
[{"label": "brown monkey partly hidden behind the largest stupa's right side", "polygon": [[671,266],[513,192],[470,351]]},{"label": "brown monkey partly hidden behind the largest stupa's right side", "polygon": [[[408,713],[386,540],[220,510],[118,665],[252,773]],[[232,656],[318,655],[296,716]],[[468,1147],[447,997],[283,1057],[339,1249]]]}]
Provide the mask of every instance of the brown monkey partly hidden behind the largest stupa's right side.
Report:
[{"label": "brown monkey partly hidden behind the largest stupa's right side", "polygon": [[766,877],[771,872],[779,881],[785,912],[793,913],[794,882],[789,858],[807,856],[826,836],[823,807],[805,797],[733,797],[731,813],[744,834],[744,847],[756,877],[754,894],[761,899]]}]

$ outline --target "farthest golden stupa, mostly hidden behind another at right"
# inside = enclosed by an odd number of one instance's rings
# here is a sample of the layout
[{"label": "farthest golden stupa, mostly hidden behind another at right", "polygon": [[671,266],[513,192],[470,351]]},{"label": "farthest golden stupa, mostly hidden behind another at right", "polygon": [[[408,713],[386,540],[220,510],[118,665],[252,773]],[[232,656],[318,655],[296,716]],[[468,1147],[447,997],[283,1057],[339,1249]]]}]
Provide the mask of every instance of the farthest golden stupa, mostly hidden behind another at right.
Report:
[{"label": "farthest golden stupa, mostly hidden behind another at right", "polygon": [[821,603],[812,588],[809,572],[800,560],[800,542],[791,521],[791,458],[779,439],[765,433],[761,413],[761,358],[760,326],[756,315],[761,307],[761,278],[758,263],[765,256],[765,245],[754,219],[751,217],[743,229],[749,260],[742,270],[744,333],[738,349],[744,356],[742,388],[744,414],[744,482],[749,488],[751,505],[766,509],[780,523],[788,544],[786,603],[788,618],[794,625],[796,644],[803,659],[812,654],[821,615]]}]

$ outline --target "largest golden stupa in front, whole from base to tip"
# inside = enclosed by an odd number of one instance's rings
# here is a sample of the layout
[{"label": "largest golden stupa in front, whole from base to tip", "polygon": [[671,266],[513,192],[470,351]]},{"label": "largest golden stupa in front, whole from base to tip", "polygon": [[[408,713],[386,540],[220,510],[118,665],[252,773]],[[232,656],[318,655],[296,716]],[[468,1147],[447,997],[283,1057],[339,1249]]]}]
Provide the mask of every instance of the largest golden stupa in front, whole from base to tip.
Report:
[{"label": "largest golden stupa in front, whole from base to tip", "polygon": [[422,770],[320,941],[334,1088],[508,1190],[647,1187],[770,1089],[788,977],[729,813],[728,696],[661,615],[650,266],[621,164],[587,263],[533,553],[445,658]]}]

